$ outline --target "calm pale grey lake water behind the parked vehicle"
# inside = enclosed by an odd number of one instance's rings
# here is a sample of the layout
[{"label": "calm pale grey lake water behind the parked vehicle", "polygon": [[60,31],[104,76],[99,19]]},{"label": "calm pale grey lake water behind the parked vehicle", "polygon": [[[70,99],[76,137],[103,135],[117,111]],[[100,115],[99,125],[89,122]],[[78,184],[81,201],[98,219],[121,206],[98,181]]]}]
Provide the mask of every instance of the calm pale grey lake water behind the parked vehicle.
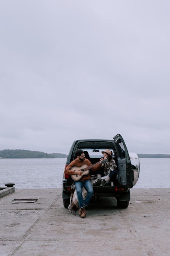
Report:
[{"label": "calm pale grey lake water behind the parked vehicle", "polygon": [[[134,188],[170,188],[170,158],[140,158]],[[62,188],[65,158],[0,159],[0,187]]]}]

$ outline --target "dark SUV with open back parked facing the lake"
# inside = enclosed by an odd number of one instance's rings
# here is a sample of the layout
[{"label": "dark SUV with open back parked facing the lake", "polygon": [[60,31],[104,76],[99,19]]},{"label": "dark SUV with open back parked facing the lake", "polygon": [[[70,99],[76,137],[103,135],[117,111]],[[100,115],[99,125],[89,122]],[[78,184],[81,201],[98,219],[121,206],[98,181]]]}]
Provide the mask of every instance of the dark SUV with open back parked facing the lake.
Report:
[{"label": "dark SUV with open back parked facing the lake", "polygon": [[[66,167],[75,159],[75,151],[81,148],[85,152],[85,158],[95,164],[103,156],[102,151],[109,149],[113,153],[113,158],[117,165],[118,184],[114,186],[95,186],[94,196],[115,197],[117,207],[127,208],[130,200],[130,188],[138,181],[139,177],[139,158],[136,153],[128,153],[124,140],[120,134],[117,134],[113,140],[76,140],[73,142],[70,152],[67,156]],[[91,179],[97,179],[95,173],[90,172]],[[73,180],[68,174],[63,174],[63,204],[68,208],[70,202],[71,185]]]}]

